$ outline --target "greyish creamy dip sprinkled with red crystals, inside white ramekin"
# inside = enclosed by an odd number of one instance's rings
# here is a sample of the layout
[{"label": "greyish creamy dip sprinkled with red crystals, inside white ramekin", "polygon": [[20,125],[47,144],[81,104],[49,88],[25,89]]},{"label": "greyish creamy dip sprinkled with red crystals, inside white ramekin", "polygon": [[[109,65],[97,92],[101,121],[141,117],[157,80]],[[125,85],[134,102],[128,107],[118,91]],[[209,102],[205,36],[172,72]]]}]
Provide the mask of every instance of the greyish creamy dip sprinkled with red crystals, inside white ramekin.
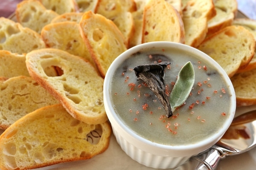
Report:
[{"label": "greyish creamy dip sprinkled with red crystals, inside white ramekin", "polygon": [[[166,117],[157,96],[142,80],[137,81],[138,65],[171,62],[165,70],[166,94],[186,62],[192,62],[195,83],[181,107]],[[142,50],[125,60],[113,74],[110,96],[116,114],[131,130],[152,142],[186,145],[199,142],[220,130],[230,116],[231,93],[223,76],[212,63],[183,51]]]}]

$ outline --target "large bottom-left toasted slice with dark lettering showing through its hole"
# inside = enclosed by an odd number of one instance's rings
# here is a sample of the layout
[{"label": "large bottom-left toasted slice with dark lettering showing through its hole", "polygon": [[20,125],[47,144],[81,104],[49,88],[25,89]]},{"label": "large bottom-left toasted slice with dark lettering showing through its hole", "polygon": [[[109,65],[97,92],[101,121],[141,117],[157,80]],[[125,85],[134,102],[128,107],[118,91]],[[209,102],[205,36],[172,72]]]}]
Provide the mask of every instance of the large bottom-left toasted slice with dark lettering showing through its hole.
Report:
[{"label": "large bottom-left toasted slice with dark lettering showing through its hole", "polygon": [[[93,132],[93,134],[92,134]],[[94,134],[98,140],[91,142]],[[109,146],[108,122],[88,125],[61,105],[27,114],[0,136],[1,170],[27,170],[67,161],[90,159]]]}]

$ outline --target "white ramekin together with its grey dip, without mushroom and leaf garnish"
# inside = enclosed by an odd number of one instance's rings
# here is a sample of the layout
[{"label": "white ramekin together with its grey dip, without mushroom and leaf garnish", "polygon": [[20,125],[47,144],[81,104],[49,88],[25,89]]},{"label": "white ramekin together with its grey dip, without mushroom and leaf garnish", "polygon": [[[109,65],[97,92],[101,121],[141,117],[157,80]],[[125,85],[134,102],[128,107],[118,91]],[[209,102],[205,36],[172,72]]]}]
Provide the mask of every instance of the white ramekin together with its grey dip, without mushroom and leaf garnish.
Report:
[{"label": "white ramekin together with its grey dip, without mushroom and leaf garnish", "polygon": [[[191,62],[195,82],[169,118],[159,98],[134,68],[169,62],[163,81],[170,96],[180,69]],[[128,49],[108,69],[104,105],[113,133],[132,159],[153,168],[174,168],[207,150],[225,133],[236,111],[233,85],[211,57],[188,45],[148,42]]]}]

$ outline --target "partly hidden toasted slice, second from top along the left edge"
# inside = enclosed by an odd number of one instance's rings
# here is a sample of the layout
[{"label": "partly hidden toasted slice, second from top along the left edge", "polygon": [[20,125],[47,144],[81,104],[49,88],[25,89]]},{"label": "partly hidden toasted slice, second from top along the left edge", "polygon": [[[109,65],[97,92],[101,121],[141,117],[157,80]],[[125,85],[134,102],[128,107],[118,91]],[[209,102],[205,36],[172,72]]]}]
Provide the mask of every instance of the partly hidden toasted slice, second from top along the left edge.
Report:
[{"label": "partly hidden toasted slice, second from top along the left edge", "polygon": [[0,50],[0,77],[29,76],[25,54]]}]

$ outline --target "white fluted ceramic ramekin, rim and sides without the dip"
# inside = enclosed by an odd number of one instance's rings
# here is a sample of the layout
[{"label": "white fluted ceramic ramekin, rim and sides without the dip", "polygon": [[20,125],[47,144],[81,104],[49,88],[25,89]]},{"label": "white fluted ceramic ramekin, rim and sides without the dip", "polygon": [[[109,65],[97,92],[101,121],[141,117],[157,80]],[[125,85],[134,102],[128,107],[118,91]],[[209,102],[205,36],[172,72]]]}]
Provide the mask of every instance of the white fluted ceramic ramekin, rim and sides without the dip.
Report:
[{"label": "white fluted ceramic ramekin, rim and sides without the dip", "polygon": [[[158,144],[155,142],[151,142],[147,139],[144,139],[143,137],[135,134],[129,127],[122,123],[122,121],[119,119],[119,117],[116,115],[113,109],[109,93],[109,85],[113,73],[116,70],[116,67],[120,65],[122,62],[124,62],[124,60],[130,57],[132,54],[140,51],[141,49],[150,49],[153,47],[171,48],[175,50],[186,51],[186,53],[203,57],[204,59],[209,60],[209,62],[214,63],[215,67],[221,72],[221,74],[223,74],[224,79],[227,81],[231,93],[234,95],[231,96],[230,116],[224,123],[223,128],[221,128],[221,130],[219,130],[218,133],[215,133],[208,139],[205,139],[204,141],[195,144],[188,144],[186,146],[171,146],[165,144]],[[120,54],[119,57],[117,57],[113,61],[113,63],[108,69],[108,72],[105,76],[103,89],[105,110],[108,115],[108,119],[111,122],[113,133],[122,150],[124,150],[124,152],[128,156],[130,156],[132,159],[139,162],[140,164],[153,168],[174,168],[179,166],[180,164],[183,164],[191,156],[195,156],[198,153],[207,150],[209,147],[215,144],[221,138],[221,136],[223,136],[225,131],[230,126],[236,111],[235,91],[229,77],[221,68],[221,66],[218,65],[218,63],[215,62],[207,54],[204,54],[196,48],[192,48],[188,45],[175,42],[148,42],[141,45],[137,45]]]}]

